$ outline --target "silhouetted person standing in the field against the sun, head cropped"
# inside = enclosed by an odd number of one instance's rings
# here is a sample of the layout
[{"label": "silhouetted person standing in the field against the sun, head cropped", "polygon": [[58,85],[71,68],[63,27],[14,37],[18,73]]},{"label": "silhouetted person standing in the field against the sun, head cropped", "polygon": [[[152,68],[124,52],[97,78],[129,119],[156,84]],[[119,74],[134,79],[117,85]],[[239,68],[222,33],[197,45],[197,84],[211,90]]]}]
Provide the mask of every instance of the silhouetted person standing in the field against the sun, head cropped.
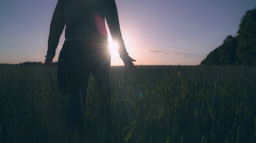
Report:
[{"label": "silhouetted person standing in the field against the sun, head cropped", "polygon": [[[133,60],[122,39],[115,0],[58,0],[50,24],[46,66],[52,66],[59,38],[65,28],[65,42],[58,59],[58,85],[62,94],[70,94],[67,114],[68,142],[74,141],[76,125],[80,142],[85,131],[84,113],[90,73],[97,80],[100,92],[97,112],[103,109],[106,119],[106,140],[110,136],[110,50],[105,19],[125,67],[135,71]],[[101,136],[101,135],[100,135]],[[102,142],[99,139],[99,142]]]}]

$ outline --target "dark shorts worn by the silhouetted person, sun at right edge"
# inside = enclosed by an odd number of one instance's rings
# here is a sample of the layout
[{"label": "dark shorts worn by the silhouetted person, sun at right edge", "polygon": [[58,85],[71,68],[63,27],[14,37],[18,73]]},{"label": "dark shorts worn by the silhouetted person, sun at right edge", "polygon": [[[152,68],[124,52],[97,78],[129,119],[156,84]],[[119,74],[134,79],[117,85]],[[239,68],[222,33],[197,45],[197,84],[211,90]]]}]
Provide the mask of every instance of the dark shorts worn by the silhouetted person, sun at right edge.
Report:
[{"label": "dark shorts worn by the silhouetted person, sun at right edge", "polygon": [[[81,88],[90,73],[109,80],[110,50],[108,42],[68,41],[62,46],[58,60],[58,86],[62,94]],[[109,81],[107,81],[109,82]]]}]

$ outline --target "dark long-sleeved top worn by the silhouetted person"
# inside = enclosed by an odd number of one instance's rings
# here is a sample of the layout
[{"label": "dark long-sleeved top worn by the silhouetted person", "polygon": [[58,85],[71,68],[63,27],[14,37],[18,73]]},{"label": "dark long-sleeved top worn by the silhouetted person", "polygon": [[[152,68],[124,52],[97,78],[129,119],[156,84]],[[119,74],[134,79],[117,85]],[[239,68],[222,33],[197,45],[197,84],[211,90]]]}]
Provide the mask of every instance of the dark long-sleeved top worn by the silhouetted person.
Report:
[{"label": "dark long-sleeved top worn by the silhouetted person", "polygon": [[107,41],[105,19],[119,54],[127,54],[115,0],[58,0],[50,24],[47,54],[55,55],[61,33],[65,40]]}]

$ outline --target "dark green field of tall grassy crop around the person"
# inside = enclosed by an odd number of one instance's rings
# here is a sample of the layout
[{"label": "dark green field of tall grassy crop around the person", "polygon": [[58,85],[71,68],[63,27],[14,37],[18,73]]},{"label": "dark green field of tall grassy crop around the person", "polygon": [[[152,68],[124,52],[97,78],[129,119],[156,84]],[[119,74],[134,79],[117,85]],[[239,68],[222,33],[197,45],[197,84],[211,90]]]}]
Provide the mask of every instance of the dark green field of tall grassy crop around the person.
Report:
[{"label": "dark green field of tall grassy crop around the person", "polygon": [[[115,142],[256,142],[256,67],[112,67]],[[87,142],[95,142],[90,80]],[[56,67],[0,65],[0,142],[64,142],[68,95]]]}]

